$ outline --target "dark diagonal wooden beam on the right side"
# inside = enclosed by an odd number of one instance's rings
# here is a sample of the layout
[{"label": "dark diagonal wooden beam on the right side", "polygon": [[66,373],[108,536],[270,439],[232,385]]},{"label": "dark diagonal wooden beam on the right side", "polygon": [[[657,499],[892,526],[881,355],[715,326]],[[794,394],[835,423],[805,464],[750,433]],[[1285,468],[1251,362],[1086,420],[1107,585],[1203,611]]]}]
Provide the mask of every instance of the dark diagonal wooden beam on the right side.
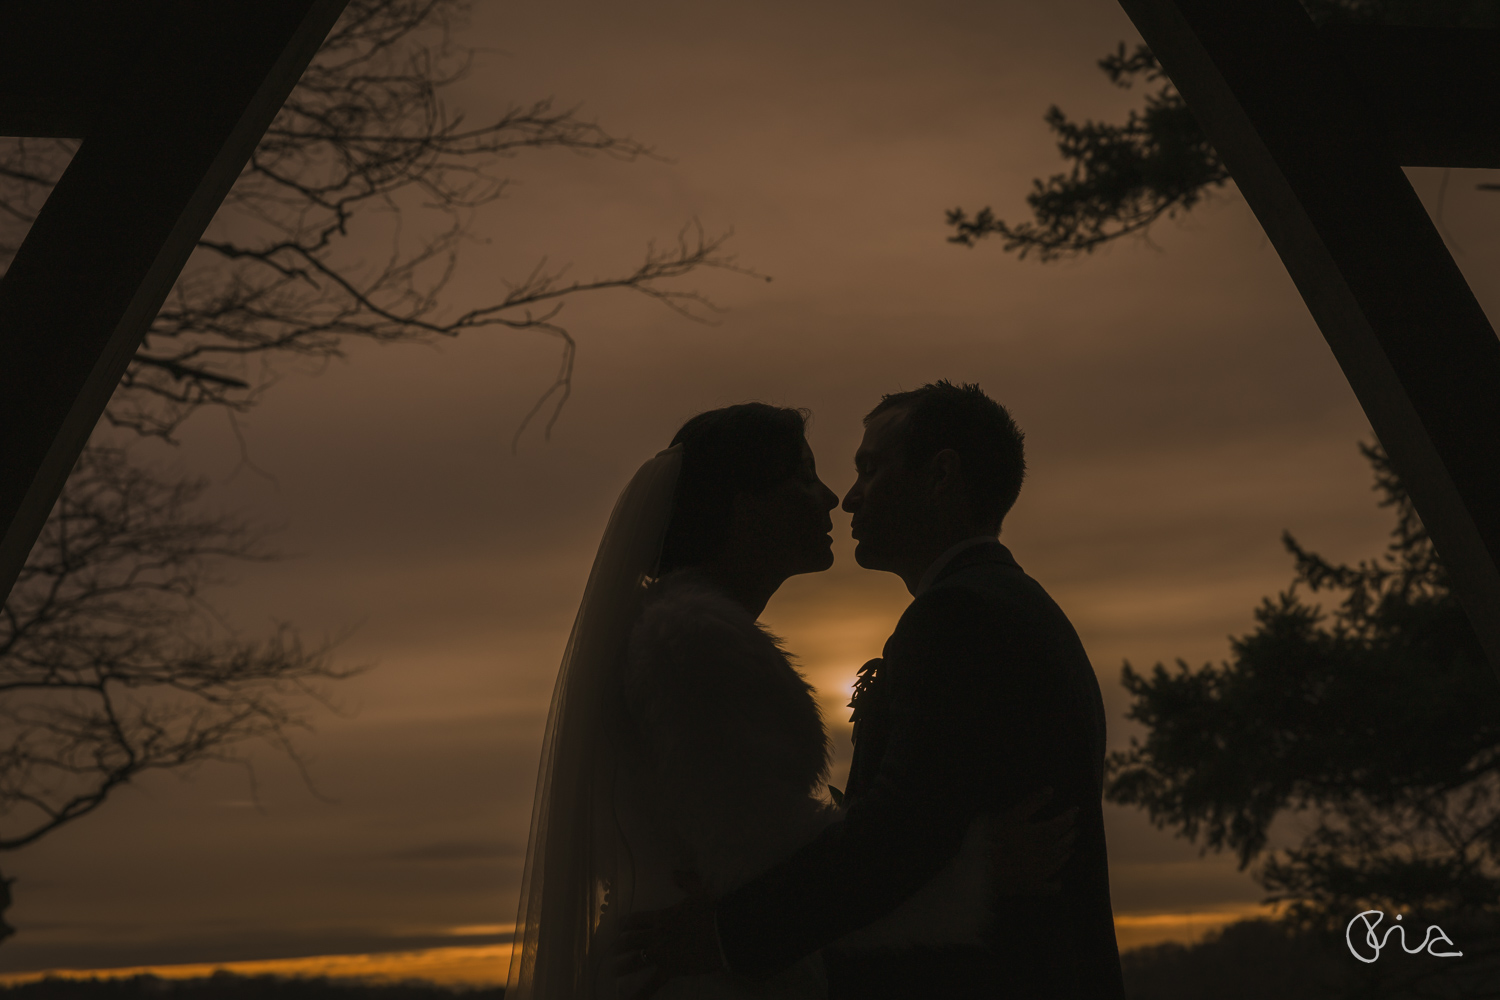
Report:
[{"label": "dark diagonal wooden beam on the right side", "polygon": [[1256,211],[1500,672],[1500,340],[1296,0],[1120,0]]}]

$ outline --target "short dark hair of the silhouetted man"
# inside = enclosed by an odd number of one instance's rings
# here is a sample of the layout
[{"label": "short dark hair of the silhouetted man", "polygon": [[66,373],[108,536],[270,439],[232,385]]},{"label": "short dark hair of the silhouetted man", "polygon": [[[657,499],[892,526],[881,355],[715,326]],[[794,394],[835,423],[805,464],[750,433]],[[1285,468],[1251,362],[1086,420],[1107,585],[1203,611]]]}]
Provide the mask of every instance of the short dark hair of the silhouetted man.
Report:
[{"label": "short dark hair of the silhouetted man", "polygon": [[1026,435],[1010,411],[978,385],[954,385],[948,379],[908,393],[888,393],[864,421],[891,409],[906,415],[902,444],[906,466],[915,469],[944,448],[952,448],[958,453],[975,516],[986,526],[999,528],[1026,478]]}]

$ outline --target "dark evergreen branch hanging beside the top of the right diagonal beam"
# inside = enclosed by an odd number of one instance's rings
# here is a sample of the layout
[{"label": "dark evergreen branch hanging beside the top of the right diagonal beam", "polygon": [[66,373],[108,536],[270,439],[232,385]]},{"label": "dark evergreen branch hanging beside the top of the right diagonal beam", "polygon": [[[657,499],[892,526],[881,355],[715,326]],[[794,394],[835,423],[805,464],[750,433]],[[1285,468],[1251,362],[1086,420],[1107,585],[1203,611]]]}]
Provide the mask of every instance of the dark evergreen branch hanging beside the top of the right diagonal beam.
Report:
[{"label": "dark evergreen branch hanging beside the top of the right diagonal beam", "polygon": [[[1384,22],[1436,27],[1500,27],[1500,0],[1302,0],[1317,22]],[[1214,144],[1146,45],[1125,42],[1100,60],[1118,87],[1154,85],[1124,124],[1074,121],[1053,105],[1047,126],[1068,171],[1032,181],[1032,220],[1011,225],[990,207],[972,216],[948,211],[950,243],[974,246],[999,237],[1018,256],[1041,261],[1090,253],[1161,217],[1190,211],[1230,180]],[[1158,85],[1160,84],[1160,85]],[[1496,189],[1494,184],[1480,184]]]}]

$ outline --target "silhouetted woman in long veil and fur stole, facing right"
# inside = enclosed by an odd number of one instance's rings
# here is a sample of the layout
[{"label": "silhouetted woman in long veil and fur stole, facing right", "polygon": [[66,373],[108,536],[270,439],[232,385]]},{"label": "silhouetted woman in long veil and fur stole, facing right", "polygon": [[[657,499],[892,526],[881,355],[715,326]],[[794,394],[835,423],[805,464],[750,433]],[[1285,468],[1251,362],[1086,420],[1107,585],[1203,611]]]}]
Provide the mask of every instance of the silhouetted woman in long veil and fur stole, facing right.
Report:
[{"label": "silhouetted woman in long veil and fur stole, facing right", "polygon": [[[832,565],[838,498],[806,418],[765,403],[699,414],[621,493],[548,717],[507,1000],[660,987],[620,975],[621,918],[722,895],[838,819],[813,688],[756,622],[788,577]],[[976,820],[946,870],[838,948],[982,940],[988,894],[1034,883],[1066,849],[1056,825],[1006,822]],[[993,870],[1005,838],[1029,868]],[[770,981],[690,976],[656,996],[816,1000],[826,981],[813,955]]]}]

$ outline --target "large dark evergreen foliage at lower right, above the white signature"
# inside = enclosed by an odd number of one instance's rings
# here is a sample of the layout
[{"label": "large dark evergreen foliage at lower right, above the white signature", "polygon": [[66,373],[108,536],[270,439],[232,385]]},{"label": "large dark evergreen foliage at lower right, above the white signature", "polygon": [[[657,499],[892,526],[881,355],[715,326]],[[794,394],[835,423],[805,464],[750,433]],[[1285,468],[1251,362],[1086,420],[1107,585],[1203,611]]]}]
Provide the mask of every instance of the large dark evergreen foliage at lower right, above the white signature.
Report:
[{"label": "large dark evergreen foliage at lower right, above the white signature", "polygon": [[[1268,901],[1310,924],[1370,907],[1500,912],[1500,685],[1383,451],[1362,448],[1396,525],[1384,556],[1334,565],[1284,535],[1296,579],[1232,660],[1150,675],[1149,730],[1106,795],[1204,850],[1233,850]],[[1340,597],[1332,612],[1304,598]],[[1270,849],[1276,819],[1311,825]]]}]

